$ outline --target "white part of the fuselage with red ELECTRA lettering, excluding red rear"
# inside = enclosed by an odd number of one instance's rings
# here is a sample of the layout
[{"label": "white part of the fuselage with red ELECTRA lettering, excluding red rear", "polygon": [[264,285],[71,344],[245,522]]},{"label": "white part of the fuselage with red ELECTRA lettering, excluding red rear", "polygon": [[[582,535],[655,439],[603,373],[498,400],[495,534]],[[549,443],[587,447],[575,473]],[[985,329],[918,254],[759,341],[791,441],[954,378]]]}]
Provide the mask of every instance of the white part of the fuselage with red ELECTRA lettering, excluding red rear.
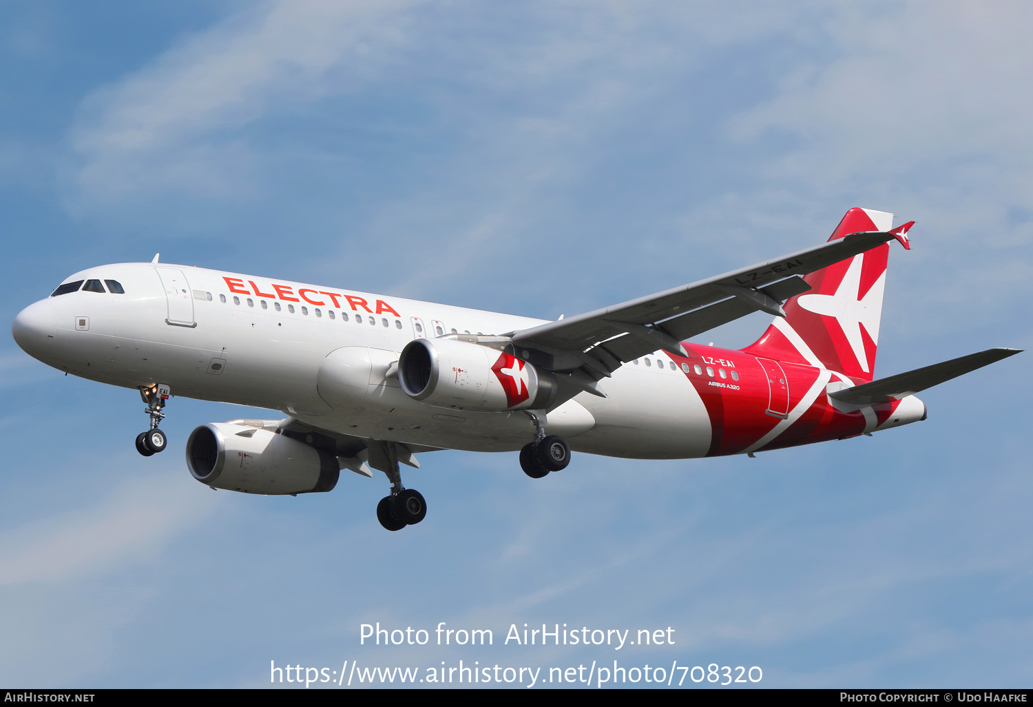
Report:
[{"label": "white part of the fuselage with red ELECTRA lettering, excluding red rear", "polygon": [[[417,337],[495,335],[539,319],[164,264],[84,270],[66,281],[115,280],[124,294],[73,291],[27,307],[20,345],[55,368],[175,396],[273,408],[356,437],[471,451],[519,450],[522,411],[434,407],[401,389],[390,365]],[[576,451],[633,458],[701,457],[711,421],[666,354],[625,365],[547,416]],[[645,360],[643,364],[645,364]],[[365,386],[365,392],[362,388]]]}]

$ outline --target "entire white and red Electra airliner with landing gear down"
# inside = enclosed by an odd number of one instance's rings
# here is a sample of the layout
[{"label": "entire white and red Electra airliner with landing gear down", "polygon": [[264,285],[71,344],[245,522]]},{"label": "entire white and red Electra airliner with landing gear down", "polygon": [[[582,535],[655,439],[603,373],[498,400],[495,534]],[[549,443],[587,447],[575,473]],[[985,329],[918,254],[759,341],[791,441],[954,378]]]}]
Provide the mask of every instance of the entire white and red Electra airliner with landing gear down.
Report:
[{"label": "entire white and red Electra airliner with landing gear down", "polygon": [[[520,451],[527,475],[571,450],[630,459],[748,455],[926,420],[927,388],[1019,354],[991,348],[875,379],[889,241],[913,221],[850,209],[827,242],[556,321],[159,263],[80,271],[22,310],[39,361],[139,391],[145,457],[177,396],[279,409],[197,427],[190,473],[213,489],[327,492],[342,469],[390,483],[388,530],[427,502],[400,464],[452,449]],[[753,344],[688,339],[755,311]]]}]

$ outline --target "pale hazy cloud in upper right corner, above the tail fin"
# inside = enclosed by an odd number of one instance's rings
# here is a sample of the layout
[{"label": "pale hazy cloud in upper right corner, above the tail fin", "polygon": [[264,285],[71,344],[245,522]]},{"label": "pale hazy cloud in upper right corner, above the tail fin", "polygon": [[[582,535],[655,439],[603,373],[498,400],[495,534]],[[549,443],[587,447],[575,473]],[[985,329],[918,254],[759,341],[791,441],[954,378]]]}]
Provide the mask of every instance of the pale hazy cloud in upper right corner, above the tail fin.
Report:
[{"label": "pale hazy cloud in upper right corner, above the tail fin", "polygon": [[823,28],[834,56],[793,66],[730,133],[788,135],[769,176],[819,192],[874,183],[930,208],[962,197],[976,223],[1002,202],[1033,206],[1033,95],[1016,90],[1033,69],[1031,21],[1022,2],[844,5]]}]

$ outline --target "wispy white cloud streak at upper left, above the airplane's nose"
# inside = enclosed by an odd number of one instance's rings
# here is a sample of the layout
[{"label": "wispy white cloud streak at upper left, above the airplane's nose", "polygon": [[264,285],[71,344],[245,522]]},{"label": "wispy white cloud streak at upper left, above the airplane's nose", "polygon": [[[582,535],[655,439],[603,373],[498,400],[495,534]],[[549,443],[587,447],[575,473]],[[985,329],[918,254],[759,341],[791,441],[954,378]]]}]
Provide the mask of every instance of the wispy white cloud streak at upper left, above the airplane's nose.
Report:
[{"label": "wispy white cloud streak at upper left, above the airplane's nose", "polygon": [[241,128],[278,101],[318,97],[335,66],[375,70],[367,42],[397,41],[397,26],[383,20],[411,4],[262,3],[95,91],[72,133],[83,162],[80,196],[112,198],[142,188],[226,195],[246,188],[253,163],[243,141],[205,139]]}]

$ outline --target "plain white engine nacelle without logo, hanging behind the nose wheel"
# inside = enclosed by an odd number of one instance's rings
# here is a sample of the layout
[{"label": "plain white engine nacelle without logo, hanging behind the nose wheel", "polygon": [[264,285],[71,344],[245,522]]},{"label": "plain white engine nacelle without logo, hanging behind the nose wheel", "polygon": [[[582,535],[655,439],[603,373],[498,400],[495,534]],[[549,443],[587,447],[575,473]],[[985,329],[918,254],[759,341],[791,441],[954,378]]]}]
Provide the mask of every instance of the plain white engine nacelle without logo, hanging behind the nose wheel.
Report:
[{"label": "plain white engine nacelle without logo, hanging behind the nose wheel", "polygon": [[271,496],[331,491],[341,470],[327,452],[233,423],[209,423],[191,432],[187,466],[201,484]]}]

